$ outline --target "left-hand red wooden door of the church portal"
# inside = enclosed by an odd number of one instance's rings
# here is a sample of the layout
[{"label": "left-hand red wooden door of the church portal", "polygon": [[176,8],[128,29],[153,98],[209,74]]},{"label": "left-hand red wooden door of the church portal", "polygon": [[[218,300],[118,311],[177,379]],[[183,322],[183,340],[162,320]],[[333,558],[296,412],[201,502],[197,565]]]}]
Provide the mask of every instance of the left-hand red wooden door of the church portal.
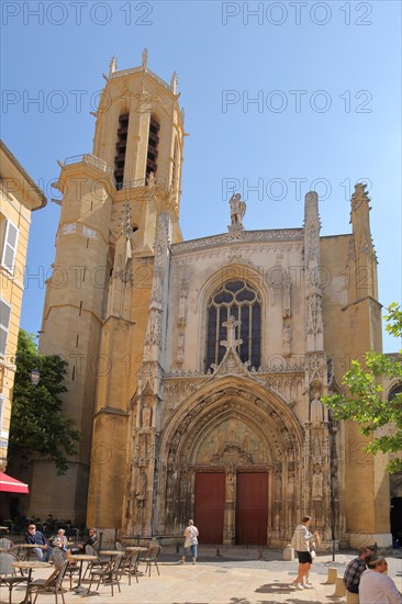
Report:
[{"label": "left-hand red wooden door of the church portal", "polygon": [[202,544],[221,545],[225,508],[225,474],[198,472],[196,474],[194,524]]}]

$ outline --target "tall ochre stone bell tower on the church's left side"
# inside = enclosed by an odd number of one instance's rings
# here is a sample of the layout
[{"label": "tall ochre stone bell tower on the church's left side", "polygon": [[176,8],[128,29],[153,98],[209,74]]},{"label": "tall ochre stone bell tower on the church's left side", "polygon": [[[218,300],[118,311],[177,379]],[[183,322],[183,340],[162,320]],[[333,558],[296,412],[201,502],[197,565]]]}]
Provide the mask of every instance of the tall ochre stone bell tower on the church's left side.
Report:
[{"label": "tall ochre stone bell tower on the church's left side", "polygon": [[68,361],[64,412],[81,441],[65,476],[35,462],[30,510],[94,526],[121,525],[127,413],[144,360],[160,213],[171,242],[182,238],[178,80],[175,72],[167,83],[147,63],[146,49],[138,67],[118,70],[112,58],[92,113],[93,152],[59,163],[56,183],[62,214],[41,351]]}]

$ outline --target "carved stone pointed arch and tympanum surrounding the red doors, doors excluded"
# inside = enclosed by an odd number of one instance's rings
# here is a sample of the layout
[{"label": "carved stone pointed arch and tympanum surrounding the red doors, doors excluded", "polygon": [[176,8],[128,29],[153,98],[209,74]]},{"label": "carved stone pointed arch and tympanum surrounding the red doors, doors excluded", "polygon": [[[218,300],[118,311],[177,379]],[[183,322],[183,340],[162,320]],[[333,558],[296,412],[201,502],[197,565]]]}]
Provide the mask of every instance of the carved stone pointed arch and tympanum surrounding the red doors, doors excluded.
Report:
[{"label": "carved stone pointed arch and tympanum surrounding the red doors, doors excluded", "polygon": [[[168,382],[172,388],[174,380]],[[278,526],[271,537],[286,538],[293,528],[297,506],[301,505],[301,465],[295,461],[302,459],[302,438],[293,412],[261,384],[241,376],[206,380],[178,406],[164,429],[160,458],[167,463],[158,476],[159,494],[165,502],[159,510],[160,527],[175,530],[186,521],[193,506],[196,472],[223,471],[224,540],[232,543],[236,472],[248,468],[273,477],[275,469],[275,479],[269,478],[270,501],[273,511],[278,500],[283,514],[279,508],[278,513],[272,512]]]}]

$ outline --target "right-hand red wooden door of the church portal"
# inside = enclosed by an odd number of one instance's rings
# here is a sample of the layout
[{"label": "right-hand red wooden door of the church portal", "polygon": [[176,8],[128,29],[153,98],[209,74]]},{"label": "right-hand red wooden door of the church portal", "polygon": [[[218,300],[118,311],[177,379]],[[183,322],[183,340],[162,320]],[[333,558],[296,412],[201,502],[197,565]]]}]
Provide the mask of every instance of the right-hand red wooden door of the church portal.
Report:
[{"label": "right-hand red wooden door of the church portal", "polygon": [[236,490],[236,544],[267,545],[268,474],[241,472]]}]

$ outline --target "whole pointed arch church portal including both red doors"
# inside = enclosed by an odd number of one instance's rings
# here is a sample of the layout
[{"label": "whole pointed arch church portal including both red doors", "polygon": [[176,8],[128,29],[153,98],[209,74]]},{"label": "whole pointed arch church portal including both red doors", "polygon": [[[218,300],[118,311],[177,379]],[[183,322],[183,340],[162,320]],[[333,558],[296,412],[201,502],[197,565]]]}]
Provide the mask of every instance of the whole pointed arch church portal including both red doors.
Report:
[{"label": "whole pointed arch church portal including both red doors", "polygon": [[301,504],[301,451],[302,428],[279,394],[244,377],[212,379],[164,430],[159,529],[194,517],[205,544],[283,538]]}]

